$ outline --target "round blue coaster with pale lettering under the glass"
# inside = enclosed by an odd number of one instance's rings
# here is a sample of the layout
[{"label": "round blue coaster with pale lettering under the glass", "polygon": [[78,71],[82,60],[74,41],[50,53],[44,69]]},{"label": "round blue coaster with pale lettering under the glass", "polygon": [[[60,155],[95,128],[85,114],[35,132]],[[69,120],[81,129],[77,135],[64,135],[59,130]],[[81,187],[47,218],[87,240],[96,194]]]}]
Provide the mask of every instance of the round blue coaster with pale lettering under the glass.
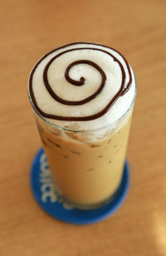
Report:
[{"label": "round blue coaster with pale lettering under the glass", "polygon": [[75,209],[57,193],[56,185],[51,179],[51,173],[46,162],[46,155],[41,148],[32,163],[31,172],[32,193],[41,208],[52,217],[71,224],[90,224],[105,219],[113,214],[125,200],[129,190],[129,165],[125,161],[124,174],[120,187],[108,204],[99,209]]}]

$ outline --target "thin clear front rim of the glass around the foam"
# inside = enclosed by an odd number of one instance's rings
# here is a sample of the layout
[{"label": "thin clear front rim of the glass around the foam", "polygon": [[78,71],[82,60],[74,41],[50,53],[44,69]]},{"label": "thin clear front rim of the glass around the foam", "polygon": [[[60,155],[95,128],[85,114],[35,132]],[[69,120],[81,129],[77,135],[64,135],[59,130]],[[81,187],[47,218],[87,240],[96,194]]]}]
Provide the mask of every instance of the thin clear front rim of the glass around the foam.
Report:
[{"label": "thin clear front rim of the glass around the foam", "polygon": [[[130,64],[129,64],[129,66],[130,66]],[[131,69],[132,69],[132,67],[131,67]],[[133,69],[132,69],[132,71],[133,71]],[[133,75],[134,75],[134,71],[133,71]],[[102,127],[96,128],[96,129],[73,130],[73,129],[70,129],[70,128],[62,127],[62,126],[56,126],[54,123],[52,123],[51,121],[46,119],[44,116],[41,116],[41,114],[37,111],[37,109],[33,105],[32,98],[31,98],[30,92],[29,92],[29,83],[27,83],[27,95],[28,95],[29,101],[30,101],[30,103],[32,105],[32,108],[36,112],[37,116],[39,116],[42,121],[45,121],[46,124],[48,124],[50,126],[53,126],[54,128],[56,128],[58,130],[65,130],[65,131],[76,132],[76,133],[88,133],[88,132],[93,132],[93,131],[97,131],[97,130],[101,130],[101,129],[106,129],[106,128],[110,127],[110,126],[114,126],[118,121],[123,119],[123,117],[129,112],[130,108],[134,105],[134,99],[135,99],[135,96],[136,96],[136,92],[137,92],[137,86],[136,86],[136,78],[135,78],[135,75],[134,75],[134,96],[133,96],[133,100],[131,101],[131,104],[130,104],[129,108],[127,109],[127,111],[125,112],[125,114],[123,116],[120,116],[120,118],[118,120],[114,121],[113,123],[111,123],[109,125],[102,126]]]}]

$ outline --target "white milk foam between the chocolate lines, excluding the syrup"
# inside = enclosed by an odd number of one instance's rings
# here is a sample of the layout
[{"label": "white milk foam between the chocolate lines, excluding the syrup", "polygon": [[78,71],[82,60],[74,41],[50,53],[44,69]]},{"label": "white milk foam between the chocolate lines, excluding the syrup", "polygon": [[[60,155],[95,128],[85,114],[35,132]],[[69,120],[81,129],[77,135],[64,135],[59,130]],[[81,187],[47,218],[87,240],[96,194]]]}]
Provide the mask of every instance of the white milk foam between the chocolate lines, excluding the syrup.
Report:
[{"label": "white milk foam between the chocolate lines, excluding the syrup", "polygon": [[[125,69],[125,86],[127,86],[129,82],[129,71],[124,58],[121,57],[118,52],[115,52],[115,50],[92,43],[77,43],[62,47],[61,49],[51,52],[44,57],[38,64],[32,76],[32,91],[36,98],[37,106],[41,109],[41,111],[57,116],[91,116],[103,110],[115,96],[115,94],[120,91],[122,71],[118,62],[115,62],[113,57],[110,57],[110,55],[105,52],[98,50],[95,51],[93,49],[78,49],[61,54],[60,57],[57,57],[53,62],[51,62],[51,65],[47,71],[47,80],[51,86],[51,89],[62,99],[67,101],[81,101],[92,95],[99,88],[102,80],[100,72],[96,70],[95,67],[88,64],[78,64],[73,66],[69,72],[71,79],[76,81],[80,81],[81,76],[84,76],[85,84],[83,86],[74,86],[69,81],[66,81],[66,67],[69,66],[71,62],[76,62],[79,60],[89,60],[100,66],[106,75],[104,89],[98,96],[95,97],[95,99],[80,106],[68,106],[61,104],[52,98],[51,94],[46,90],[46,86],[43,81],[43,71],[46,64],[51,60],[52,57],[55,57],[60,52],[82,47],[102,49],[106,52],[110,52],[113,56],[120,60]],[[122,116],[125,115],[134,101],[134,72],[130,66],[129,68],[132,75],[132,83],[129,91],[127,91],[125,95],[120,96],[104,116],[92,121],[58,121],[46,117],[44,118],[56,126],[69,128],[76,126],[76,130],[94,130],[115,123],[115,121],[118,121]]]}]

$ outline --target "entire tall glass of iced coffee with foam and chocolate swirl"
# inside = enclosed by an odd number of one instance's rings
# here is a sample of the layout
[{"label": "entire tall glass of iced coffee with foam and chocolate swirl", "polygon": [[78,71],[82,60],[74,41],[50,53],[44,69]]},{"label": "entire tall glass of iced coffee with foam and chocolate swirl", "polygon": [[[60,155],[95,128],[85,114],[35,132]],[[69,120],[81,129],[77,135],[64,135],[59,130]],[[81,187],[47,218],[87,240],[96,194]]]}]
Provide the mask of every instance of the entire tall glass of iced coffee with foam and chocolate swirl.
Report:
[{"label": "entire tall glass of iced coffee with foam and chocolate swirl", "polygon": [[41,57],[28,86],[59,193],[92,209],[114,196],[125,163],[134,72],[110,47],[73,43]]}]

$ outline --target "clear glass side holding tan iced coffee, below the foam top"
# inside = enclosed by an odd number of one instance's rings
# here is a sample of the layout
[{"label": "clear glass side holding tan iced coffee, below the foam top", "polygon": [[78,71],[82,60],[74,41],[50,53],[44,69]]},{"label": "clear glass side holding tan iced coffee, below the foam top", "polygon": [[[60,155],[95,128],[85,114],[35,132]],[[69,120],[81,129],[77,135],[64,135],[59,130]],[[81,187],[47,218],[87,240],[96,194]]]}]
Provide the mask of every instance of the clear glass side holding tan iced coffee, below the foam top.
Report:
[{"label": "clear glass side holding tan iced coffee, below the foam top", "polygon": [[[32,104],[29,93],[28,96]],[[55,126],[32,104],[56,188],[77,209],[98,208],[110,201],[119,188],[133,106],[134,98],[119,121],[85,131]],[[105,135],[101,137],[101,134]]]}]

